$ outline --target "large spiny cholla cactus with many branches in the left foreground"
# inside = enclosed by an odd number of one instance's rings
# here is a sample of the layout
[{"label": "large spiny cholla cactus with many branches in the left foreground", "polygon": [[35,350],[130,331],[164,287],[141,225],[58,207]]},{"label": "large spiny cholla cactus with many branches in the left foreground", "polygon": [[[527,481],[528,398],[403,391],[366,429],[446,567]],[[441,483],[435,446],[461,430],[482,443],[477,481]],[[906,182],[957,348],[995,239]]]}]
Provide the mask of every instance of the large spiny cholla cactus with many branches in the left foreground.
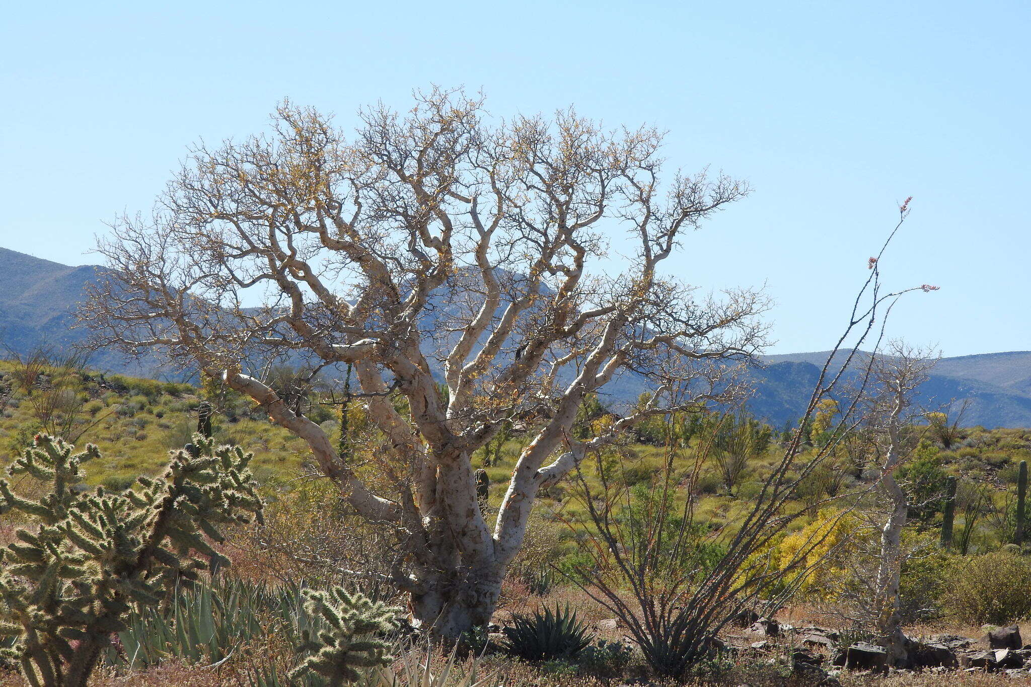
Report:
[{"label": "large spiny cholla cactus with many branches in the left foreground", "polygon": [[172,452],[162,477],[118,494],[74,489],[81,463],[100,457],[93,445],[73,454],[37,435],[7,469],[49,483],[30,501],[0,480],[0,514],[18,510],[39,523],[0,550],[0,637],[16,638],[6,657],[34,687],[85,686],[131,604],[158,604],[173,581],[198,580],[198,554],[227,563],[203,535],[221,542],[220,525],[261,517],[251,454],[194,441]]}]

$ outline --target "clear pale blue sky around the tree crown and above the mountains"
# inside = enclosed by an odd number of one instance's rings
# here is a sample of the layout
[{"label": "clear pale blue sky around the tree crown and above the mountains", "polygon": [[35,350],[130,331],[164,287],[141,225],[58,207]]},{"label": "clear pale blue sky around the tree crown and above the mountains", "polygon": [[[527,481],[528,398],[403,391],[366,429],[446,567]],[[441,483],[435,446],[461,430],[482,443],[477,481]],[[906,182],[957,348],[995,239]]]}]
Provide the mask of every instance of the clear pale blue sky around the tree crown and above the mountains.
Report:
[{"label": "clear pale blue sky around the tree crown and above the mountains", "polygon": [[464,84],[497,114],[655,124],[671,166],[749,179],[670,268],[766,283],[774,352],[829,346],[909,195],[885,271],[941,290],[892,333],[1029,349],[1029,35],[1026,0],[16,3],[0,246],[95,262],[103,222],[149,208],[188,143],[259,131],[285,96],[350,126],[361,104]]}]

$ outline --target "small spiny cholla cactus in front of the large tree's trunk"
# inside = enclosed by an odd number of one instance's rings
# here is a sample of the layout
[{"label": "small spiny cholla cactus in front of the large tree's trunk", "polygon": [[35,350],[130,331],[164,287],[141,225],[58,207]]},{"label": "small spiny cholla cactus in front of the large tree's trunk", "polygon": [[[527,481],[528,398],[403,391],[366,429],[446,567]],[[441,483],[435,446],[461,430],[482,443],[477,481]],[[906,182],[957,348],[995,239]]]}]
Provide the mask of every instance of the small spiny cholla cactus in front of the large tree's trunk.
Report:
[{"label": "small spiny cholla cactus in front of the large tree's trunk", "polygon": [[374,637],[396,627],[397,609],[383,602],[371,602],[360,592],[348,594],[341,587],[329,591],[305,590],[305,609],[319,615],[327,627],[319,632],[318,641],[307,636],[299,651],[317,652],[291,672],[297,679],[311,671],[323,676],[330,687],[339,687],[361,679],[360,668],[390,664],[387,642]]}]

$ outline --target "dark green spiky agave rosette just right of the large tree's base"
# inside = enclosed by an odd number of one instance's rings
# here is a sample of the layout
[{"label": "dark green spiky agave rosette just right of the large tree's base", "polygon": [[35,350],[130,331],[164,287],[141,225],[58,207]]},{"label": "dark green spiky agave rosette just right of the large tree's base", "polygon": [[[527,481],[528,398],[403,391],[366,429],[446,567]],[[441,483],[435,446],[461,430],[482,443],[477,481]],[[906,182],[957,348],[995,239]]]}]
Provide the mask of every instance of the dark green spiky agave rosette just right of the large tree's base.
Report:
[{"label": "dark green spiky agave rosette just right of the large tree's base", "polygon": [[575,658],[591,645],[594,632],[580,622],[566,604],[555,610],[544,608],[533,615],[512,615],[512,624],[504,628],[504,650],[528,661]]}]

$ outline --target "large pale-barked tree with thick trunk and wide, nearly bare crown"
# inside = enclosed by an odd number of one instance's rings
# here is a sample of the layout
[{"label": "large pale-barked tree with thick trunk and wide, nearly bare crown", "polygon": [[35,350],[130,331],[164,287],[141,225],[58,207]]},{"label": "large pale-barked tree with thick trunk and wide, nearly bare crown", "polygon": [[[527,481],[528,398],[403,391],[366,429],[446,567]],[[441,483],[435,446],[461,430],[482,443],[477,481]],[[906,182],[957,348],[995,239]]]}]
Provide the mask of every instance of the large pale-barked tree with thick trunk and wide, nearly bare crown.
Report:
[{"label": "large pale-barked tree with thick trunk and wide, nearly bare crown", "polygon": [[[697,298],[660,272],[747,188],[660,183],[657,131],[572,111],[492,124],[458,92],[415,101],[361,111],[351,140],[286,103],[267,136],[194,148],[153,216],[102,241],[109,278],[82,317],[98,345],[199,367],[303,438],[355,511],[398,534],[391,580],[417,620],[455,636],[493,613],[541,487],[646,418],[740,390],[733,360],[761,347],[765,299]],[[605,276],[618,233],[622,273]],[[247,374],[276,356],[353,366],[386,437],[374,470]],[[650,402],[574,436],[585,400],[627,372]],[[470,457],[506,426],[531,440],[489,524]]]}]

